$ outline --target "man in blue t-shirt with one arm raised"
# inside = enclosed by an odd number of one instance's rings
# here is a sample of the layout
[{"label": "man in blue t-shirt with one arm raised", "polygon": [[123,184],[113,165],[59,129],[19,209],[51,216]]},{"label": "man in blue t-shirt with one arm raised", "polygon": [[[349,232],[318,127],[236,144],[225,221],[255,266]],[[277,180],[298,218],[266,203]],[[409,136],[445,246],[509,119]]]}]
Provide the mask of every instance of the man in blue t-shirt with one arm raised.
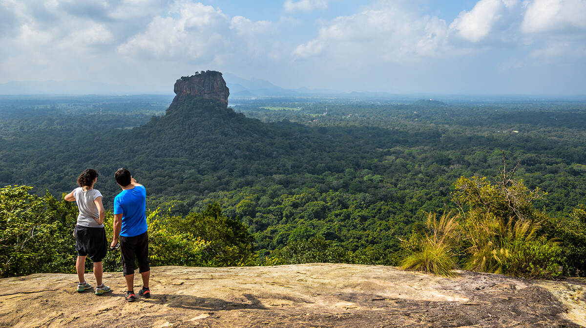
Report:
[{"label": "man in blue t-shirt with one arm raised", "polygon": [[114,236],[111,247],[118,244],[120,237],[120,251],[122,254],[122,273],[126,279],[125,299],[133,302],[134,296],[134,259],[137,259],[139,272],[142,275],[142,289],[139,296],[151,297],[148,283],[151,267],[148,259],[147,235],[147,190],[137,183],[130,171],[118,169],[114,173],[118,186],[122,188],[114,198]]}]

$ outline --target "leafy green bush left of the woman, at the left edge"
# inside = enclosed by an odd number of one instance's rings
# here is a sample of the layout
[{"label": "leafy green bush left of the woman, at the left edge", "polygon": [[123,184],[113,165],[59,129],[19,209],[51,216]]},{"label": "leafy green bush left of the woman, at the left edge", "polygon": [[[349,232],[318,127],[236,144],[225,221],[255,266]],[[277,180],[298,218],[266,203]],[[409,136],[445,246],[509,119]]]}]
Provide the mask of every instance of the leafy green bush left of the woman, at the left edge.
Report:
[{"label": "leafy green bush left of the woman, at the left edge", "polygon": [[76,207],[28,186],[0,188],[0,278],[75,272]]}]

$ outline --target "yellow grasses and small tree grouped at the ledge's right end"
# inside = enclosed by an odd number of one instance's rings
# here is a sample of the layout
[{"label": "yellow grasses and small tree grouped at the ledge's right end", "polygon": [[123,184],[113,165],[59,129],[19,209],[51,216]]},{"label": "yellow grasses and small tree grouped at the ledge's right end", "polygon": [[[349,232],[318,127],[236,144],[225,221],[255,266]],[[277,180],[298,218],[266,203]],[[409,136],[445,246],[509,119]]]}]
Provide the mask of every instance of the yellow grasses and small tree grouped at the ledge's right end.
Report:
[{"label": "yellow grasses and small tree grouped at the ledge's right end", "polygon": [[[463,262],[468,270],[537,279],[556,278],[560,264],[570,259],[575,268],[584,241],[575,229],[578,220],[570,228],[552,224],[553,218],[533,208],[533,201],[544,194],[539,188],[529,190],[514,175],[515,168],[507,172],[505,160],[495,184],[486,177],[460,177],[452,197],[462,217],[444,213],[437,220],[435,213],[428,213],[430,233],[414,232],[401,244],[407,253],[402,267],[451,275],[456,262]],[[581,210],[574,216],[580,217]],[[562,238],[572,254],[561,255],[559,242],[547,238],[544,225],[550,233],[565,233]]]}]

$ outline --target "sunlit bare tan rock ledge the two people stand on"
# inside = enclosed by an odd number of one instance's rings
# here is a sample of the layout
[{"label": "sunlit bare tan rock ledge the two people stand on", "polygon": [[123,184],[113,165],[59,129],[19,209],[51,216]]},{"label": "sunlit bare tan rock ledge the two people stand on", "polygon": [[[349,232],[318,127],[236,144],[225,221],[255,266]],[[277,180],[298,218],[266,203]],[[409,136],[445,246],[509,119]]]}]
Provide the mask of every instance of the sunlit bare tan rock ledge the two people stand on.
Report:
[{"label": "sunlit bare tan rock ledge the two people stand on", "polygon": [[586,326],[586,279],[444,278],[349,264],[151,272],[152,297],[134,303],[123,298],[121,273],[104,274],[113,292],[101,296],[77,293],[76,275],[0,279],[0,327]]}]

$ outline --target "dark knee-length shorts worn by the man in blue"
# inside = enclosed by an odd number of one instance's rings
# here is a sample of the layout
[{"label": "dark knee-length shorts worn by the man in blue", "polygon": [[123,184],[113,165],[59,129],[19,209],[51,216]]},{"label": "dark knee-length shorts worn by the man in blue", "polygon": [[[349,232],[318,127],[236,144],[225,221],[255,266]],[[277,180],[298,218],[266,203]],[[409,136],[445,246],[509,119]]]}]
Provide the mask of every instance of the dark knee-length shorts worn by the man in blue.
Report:
[{"label": "dark knee-length shorts worn by the man in blue", "polygon": [[134,237],[120,236],[120,253],[122,255],[122,273],[134,274],[134,259],[137,259],[140,272],[151,269],[148,259],[148,235],[139,234]]}]

